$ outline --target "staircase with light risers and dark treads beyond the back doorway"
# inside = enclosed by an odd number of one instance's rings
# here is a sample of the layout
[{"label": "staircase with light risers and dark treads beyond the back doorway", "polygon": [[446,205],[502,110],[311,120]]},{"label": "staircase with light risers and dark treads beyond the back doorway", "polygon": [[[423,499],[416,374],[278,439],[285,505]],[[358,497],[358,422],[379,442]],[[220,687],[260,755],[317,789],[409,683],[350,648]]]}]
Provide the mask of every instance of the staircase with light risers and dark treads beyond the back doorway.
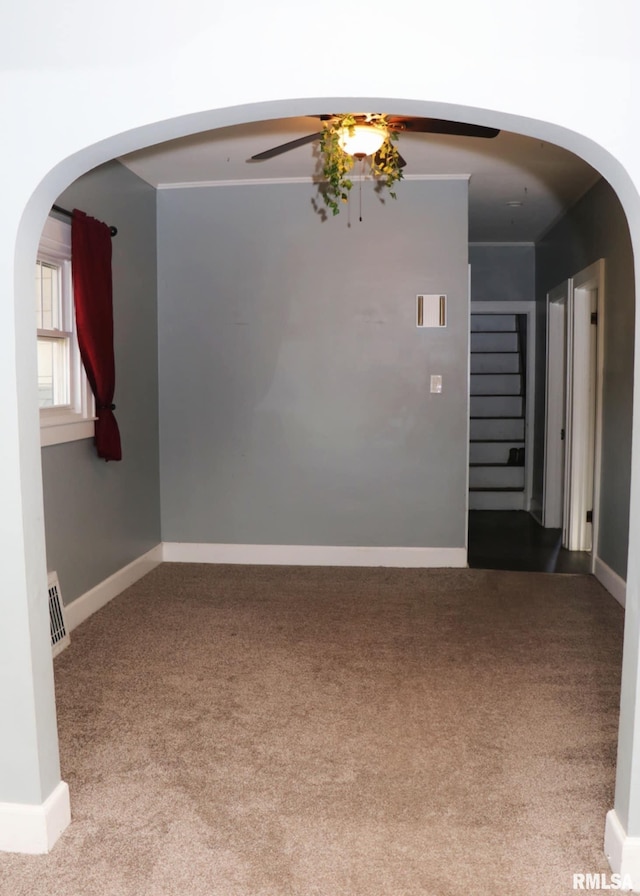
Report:
[{"label": "staircase with light risers and dark treads beyond the back doorway", "polygon": [[471,314],[470,510],[524,509],[525,321]]}]

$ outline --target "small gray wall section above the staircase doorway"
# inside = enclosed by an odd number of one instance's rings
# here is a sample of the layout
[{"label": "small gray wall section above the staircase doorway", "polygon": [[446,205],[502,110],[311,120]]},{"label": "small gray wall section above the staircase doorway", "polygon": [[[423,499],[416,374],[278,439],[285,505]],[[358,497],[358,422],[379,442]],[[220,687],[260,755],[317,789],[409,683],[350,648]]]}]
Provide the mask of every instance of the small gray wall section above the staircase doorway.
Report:
[{"label": "small gray wall section above the staircase doorway", "polygon": [[472,302],[533,302],[536,250],[531,245],[471,243]]}]

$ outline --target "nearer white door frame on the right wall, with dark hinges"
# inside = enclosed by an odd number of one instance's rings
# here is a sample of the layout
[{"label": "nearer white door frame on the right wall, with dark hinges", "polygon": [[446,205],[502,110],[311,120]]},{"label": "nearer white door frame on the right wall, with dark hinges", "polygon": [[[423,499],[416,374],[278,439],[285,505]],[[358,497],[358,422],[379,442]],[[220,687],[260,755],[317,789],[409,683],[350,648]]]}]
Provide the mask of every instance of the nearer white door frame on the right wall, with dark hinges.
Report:
[{"label": "nearer white door frame on the right wall, with dark hinges", "polygon": [[[567,432],[565,478],[567,543],[570,550],[591,550],[591,571],[598,552],[600,517],[600,473],[602,465],[602,396],[604,380],[605,266],[599,259],[572,278],[572,310],[569,352],[571,376],[570,426]],[[598,323],[595,334],[590,325],[593,292]],[[591,376],[584,376],[580,358],[595,352]],[[576,375],[582,372],[582,376]],[[587,506],[587,505],[591,506]],[[587,510],[593,511],[586,522]]]}]

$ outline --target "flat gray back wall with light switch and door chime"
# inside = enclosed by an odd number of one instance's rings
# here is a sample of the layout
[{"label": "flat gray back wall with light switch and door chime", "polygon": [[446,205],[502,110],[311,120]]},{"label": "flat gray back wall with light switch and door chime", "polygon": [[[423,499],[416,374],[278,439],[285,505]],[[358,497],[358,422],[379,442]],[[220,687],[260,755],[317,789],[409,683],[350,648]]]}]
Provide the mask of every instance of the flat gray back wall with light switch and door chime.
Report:
[{"label": "flat gray back wall with light switch and door chime", "polygon": [[163,539],[464,546],[467,183],[365,185],[362,222],[315,196],[158,196]]}]

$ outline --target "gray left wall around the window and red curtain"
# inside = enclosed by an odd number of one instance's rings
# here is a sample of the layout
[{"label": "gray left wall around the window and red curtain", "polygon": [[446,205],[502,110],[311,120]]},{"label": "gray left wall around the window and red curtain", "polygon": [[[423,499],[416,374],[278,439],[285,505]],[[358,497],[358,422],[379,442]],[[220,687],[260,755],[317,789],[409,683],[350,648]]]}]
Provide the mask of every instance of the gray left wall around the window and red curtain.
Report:
[{"label": "gray left wall around the window and red curtain", "polygon": [[58,200],[114,224],[116,418],[123,460],[92,439],[42,449],[47,566],[65,603],[160,542],[155,190],[118,162]]}]

